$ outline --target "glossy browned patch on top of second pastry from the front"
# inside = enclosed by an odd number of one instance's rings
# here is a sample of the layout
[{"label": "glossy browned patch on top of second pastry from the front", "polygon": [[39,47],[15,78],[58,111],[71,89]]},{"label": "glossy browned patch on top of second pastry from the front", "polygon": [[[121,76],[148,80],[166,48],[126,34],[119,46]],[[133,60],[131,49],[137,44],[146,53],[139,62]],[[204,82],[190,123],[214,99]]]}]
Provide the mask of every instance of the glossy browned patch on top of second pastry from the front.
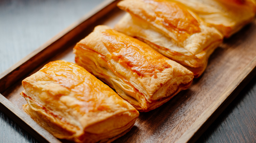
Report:
[{"label": "glossy browned patch on top of second pastry from the front", "polygon": [[153,76],[166,68],[170,68],[166,57],[150,48],[147,44],[107,29],[104,33],[103,43],[111,53],[111,59],[122,66],[136,72],[139,76]]}]

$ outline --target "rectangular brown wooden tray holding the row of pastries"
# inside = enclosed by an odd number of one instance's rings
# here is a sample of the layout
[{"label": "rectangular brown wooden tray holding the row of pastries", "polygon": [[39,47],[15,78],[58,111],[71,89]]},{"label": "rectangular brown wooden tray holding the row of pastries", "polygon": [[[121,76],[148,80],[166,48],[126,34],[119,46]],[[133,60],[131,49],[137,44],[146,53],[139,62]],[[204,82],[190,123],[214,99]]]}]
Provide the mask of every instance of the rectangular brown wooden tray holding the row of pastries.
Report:
[{"label": "rectangular brown wooden tray holding the row of pastries", "polygon": [[[61,142],[34,122],[23,110],[22,79],[49,61],[74,62],[76,42],[98,24],[113,27],[125,12],[118,1],[105,1],[30,55],[0,74],[0,109],[40,142]],[[194,142],[256,74],[256,20],[215,50],[204,74],[169,102],[140,113],[135,126],[115,142]]]}]

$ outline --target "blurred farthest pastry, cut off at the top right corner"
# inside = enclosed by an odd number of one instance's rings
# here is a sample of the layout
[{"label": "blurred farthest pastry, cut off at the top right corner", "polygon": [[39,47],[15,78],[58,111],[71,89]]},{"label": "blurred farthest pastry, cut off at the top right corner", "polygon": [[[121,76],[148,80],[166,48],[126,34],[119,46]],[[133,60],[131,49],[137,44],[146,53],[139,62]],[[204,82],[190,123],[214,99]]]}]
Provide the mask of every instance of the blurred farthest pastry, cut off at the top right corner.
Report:
[{"label": "blurred farthest pastry, cut off at the top right corner", "polygon": [[255,0],[173,0],[190,8],[228,38],[255,16]]}]

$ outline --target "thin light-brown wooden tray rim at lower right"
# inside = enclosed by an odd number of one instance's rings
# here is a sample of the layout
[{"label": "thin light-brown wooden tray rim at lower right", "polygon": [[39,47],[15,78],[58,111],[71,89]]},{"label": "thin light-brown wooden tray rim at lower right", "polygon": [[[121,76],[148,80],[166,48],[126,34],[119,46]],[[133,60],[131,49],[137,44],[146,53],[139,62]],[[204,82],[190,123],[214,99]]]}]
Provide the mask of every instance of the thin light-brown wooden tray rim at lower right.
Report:
[{"label": "thin light-brown wooden tray rim at lower right", "polygon": [[176,141],[176,143],[196,142],[197,139],[206,131],[224,109],[236,98],[241,90],[256,75],[256,56],[250,61],[245,69],[237,78],[225,88],[201,116],[190,126],[190,128]]}]

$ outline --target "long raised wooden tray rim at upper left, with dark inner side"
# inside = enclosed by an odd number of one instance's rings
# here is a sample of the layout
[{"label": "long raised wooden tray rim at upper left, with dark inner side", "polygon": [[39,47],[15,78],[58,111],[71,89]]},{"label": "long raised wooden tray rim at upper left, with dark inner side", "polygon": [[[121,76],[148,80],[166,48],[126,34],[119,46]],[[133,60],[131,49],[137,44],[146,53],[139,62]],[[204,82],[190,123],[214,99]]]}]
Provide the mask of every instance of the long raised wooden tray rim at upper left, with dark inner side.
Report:
[{"label": "long raised wooden tray rim at upper left, with dark inner side", "polygon": [[51,58],[51,53],[56,53],[56,51],[60,50],[63,45],[72,41],[75,35],[79,33],[77,31],[83,30],[81,30],[80,27],[90,26],[96,20],[102,18],[112,9],[116,8],[118,1],[120,0],[103,1],[100,5],[91,10],[78,21],[55,35],[52,39],[48,40],[39,48],[35,49],[32,53],[12,65],[9,69],[0,73],[0,93],[20,80],[26,74],[33,71],[36,67],[38,67],[38,65],[41,65],[47,61],[47,59]]}]

